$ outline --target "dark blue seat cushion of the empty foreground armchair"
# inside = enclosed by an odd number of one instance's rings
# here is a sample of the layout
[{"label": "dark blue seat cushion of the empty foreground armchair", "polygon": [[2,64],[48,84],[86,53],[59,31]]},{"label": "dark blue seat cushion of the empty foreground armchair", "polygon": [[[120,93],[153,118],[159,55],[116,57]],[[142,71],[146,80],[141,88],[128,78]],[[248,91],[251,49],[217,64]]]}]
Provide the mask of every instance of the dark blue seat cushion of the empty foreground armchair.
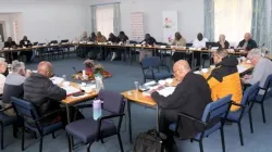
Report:
[{"label": "dark blue seat cushion of the empty foreground armchair", "polygon": [[[75,138],[78,138],[84,143],[89,143],[97,139],[98,121],[92,117],[73,122],[66,126],[66,131]],[[91,127],[90,127],[91,126]],[[112,121],[102,121],[101,123],[102,138],[116,134],[118,129]]]}]

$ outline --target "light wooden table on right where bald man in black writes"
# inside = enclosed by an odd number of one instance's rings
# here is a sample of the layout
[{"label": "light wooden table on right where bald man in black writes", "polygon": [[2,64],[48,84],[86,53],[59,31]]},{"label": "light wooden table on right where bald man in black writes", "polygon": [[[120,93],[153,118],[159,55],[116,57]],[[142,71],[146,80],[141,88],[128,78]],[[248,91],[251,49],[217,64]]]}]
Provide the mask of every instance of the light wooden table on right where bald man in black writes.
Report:
[{"label": "light wooden table on right where bald man in black writes", "polygon": [[[246,61],[242,62],[239,64],[239,66],[244,66],[246,69],[244,72],[240,73],[240,75],[245,75],[249,72],[252,71],[254,65],[250,63],[246,63]],[[206,74],[210,74],[212,71],[212,68],[209,68],[209,72]],[[201,75],[206,75],[203,73],[200,73]],[[174,80],[172,84],[169,84],[168,86],[172,86],[175,87],[177,85],[177,83]],[[133,90],[127,90],[125,92],[122,92],[122,94],[124,96],[124,98],[127,100],[127,114],[128,114],[128,136],[129,136],[129,142],[132,143],[132,103],[138,104],[138,105],[143,105],[143,106],[147,106],[150,109],[156,109],[157,110],[157,129],[159,127],[159,107],[157,105],[157,103],[151,99],[150,96],[146,96],[145,93],[143,93],[139,90],[133,89]],[[139,122],[138,122],[139,123]]]}]

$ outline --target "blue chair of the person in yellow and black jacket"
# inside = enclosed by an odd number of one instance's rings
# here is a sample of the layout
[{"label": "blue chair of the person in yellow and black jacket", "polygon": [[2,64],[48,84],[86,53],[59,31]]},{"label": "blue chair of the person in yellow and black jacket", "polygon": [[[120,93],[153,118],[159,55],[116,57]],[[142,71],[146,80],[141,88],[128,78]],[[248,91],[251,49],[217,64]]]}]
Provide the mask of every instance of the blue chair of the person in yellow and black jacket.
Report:
[{"label": "blue chair of the person in yellow and black jacket", "polygon": [[[247,105],[249,105],[250,102],[255,101],[256,96],[258,94],[258,91],[259,91],[259,84],[260,83],[257,83],[257,84],[255,84],[246,89],[246,91],[244,92],[240,104],[235,103],[235,102],[232,103],[233,105],[240,106],[240,109],[235,111],[235,112],[230,112],[227,117],[226,117],[227,122],[237,123],[238,130],[239,130],[240,145],[244,145],[240,121],[243,118],[243,115],[245,113]],[[251,130],[251,132],[254,132],[252,119],[251,119],[251,109],[252,109],[252,104],[249,106],[248,114],[249,114],[250,130]]]}]

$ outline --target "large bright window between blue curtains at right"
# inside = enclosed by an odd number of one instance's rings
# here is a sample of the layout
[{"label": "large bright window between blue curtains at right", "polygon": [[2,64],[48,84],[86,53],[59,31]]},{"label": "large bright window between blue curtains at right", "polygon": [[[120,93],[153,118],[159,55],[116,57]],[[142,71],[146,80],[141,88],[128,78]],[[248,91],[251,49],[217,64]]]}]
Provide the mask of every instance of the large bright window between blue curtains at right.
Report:
[{"label": "large bright window between blue curtains at right", "polygon": [[251,0],[214,0],[214,39],[224,34],[231,43],[237,43],[250,33]]}]

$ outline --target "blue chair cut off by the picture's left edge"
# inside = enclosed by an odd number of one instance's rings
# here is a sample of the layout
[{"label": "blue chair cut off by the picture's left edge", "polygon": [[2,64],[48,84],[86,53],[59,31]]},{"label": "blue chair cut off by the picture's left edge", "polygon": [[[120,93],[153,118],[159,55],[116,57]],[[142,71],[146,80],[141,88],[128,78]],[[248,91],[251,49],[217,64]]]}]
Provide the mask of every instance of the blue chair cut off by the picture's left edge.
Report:
[{"label": "blue chair cut off by the picture's left edge", "polygon": [[[0,96],[0,100],[2,100],[2,96]],[[16,136],[16,128],[15,128],[15,123],[17,123],[16,117],[8,116],[3,112],[9,110],[11,107],[5,107],[0,110],[0,125],[1,125],[1,150],[3,150],[3,132],[4,132],[4,127],[8,127],[10,125],[13,125],[13,137],[17,138]]]}]

